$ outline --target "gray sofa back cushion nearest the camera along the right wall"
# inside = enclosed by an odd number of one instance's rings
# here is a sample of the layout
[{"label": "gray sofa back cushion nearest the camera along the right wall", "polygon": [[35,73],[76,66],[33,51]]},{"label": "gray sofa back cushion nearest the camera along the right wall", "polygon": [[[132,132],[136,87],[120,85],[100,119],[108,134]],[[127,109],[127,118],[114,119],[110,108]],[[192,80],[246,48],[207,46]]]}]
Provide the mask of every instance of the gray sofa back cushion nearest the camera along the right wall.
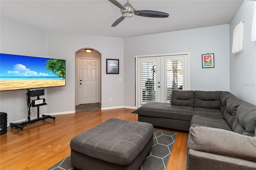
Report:
[{"label": "gray sofa back cushion nearest the camera along the right wall", "polygon": [[236,119],[232,129],[234,132],[247,136],[255,136],[256,128],[256,105],[243,102],[238,106]]}]

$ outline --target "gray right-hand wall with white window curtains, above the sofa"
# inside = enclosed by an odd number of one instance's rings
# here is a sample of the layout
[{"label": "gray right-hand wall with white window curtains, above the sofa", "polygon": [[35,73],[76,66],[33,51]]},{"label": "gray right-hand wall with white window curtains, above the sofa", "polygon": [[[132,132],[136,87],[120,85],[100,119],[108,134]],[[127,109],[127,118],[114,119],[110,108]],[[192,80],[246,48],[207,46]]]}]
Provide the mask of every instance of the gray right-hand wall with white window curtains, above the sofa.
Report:
[{"label": "gray right-hand wall with white window curtains, above the sofa", "polygon": [[[230,92],[256,105],[256,42],[251,41],[254,1],[245,0],[230,22]],[[233,30],[244,21],[244,50],[232,54]]]}]

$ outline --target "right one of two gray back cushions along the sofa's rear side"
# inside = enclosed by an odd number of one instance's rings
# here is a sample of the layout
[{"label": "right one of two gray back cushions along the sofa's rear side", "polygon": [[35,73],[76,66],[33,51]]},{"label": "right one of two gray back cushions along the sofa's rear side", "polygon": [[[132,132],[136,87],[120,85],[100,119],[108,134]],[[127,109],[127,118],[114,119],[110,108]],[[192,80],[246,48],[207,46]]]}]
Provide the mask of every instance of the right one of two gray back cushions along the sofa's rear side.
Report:
[{"label": "right one of two gray back cushions along the sofa's rear side", "polygon": [[194,107],[220,109],[222,91],[194,91]]}]

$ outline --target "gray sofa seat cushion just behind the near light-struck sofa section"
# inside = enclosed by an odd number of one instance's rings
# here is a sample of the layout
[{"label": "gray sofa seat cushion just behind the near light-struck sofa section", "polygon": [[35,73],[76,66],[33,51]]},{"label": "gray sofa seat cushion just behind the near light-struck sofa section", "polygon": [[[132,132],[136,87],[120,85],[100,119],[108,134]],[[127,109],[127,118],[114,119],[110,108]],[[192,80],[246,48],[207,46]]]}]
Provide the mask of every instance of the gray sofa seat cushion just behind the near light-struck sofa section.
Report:
[{"label": "gray sofa seat cushion just behind the near light-struck sofa section", "polygon": [[221,129],[232,131],[232,129],[228,126],[228,123],[224,119],[203,117],[199,115],[192,116],[192,119],[190,121],[190,127],[196,127],[196,126],[221,128]]}]

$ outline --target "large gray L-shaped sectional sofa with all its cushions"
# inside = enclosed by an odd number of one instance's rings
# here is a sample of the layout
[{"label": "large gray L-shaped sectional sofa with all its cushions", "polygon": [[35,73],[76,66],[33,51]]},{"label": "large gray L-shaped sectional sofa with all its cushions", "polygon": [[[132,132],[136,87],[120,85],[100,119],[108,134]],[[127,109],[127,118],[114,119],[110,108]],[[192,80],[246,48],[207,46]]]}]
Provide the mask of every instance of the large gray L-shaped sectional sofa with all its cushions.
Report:
[{"label": "large gray L-shaped sectional sofa with all its cushions", "polygon": [[227,91],[173,90],[148,102],[138,121],[189,131],[188,170],[256,170],[256,106]]}]

